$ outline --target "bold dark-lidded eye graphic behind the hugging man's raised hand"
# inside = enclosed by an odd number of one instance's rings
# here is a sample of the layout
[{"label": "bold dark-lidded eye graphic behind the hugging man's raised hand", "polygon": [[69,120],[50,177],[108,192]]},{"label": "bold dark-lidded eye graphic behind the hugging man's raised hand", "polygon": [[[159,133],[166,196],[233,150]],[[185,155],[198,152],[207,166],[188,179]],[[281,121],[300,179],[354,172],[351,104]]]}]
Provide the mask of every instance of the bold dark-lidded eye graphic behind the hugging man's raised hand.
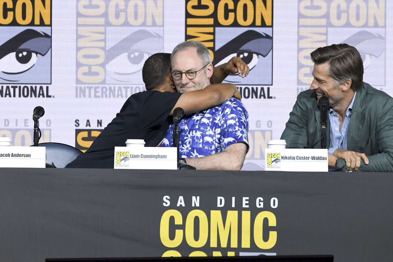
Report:
[{"label": "bold dark-lidded eye graphic behind the hugging man's raised hand", "polygon": [[[258,68],[259,60],[266,57],[273,48],[273,38],[270,35],[248,30],[228,43],[221,46],[214,53],[214,66],[228,62],[232,57],[240,57],[250,67],[250,73]],[[240,82],[237,74],[227,77],[227,82]]]}]

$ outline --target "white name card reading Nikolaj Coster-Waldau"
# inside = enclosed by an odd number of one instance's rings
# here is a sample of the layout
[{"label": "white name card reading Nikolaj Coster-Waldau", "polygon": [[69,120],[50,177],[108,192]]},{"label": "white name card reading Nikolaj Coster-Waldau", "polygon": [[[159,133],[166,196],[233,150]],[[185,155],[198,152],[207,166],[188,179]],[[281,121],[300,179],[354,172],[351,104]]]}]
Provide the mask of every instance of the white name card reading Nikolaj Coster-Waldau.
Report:
[{"label": "white name card reading Nikolaj Coster-Waldau", "polygon": [[327,172],[327,149],[265,149],[266,171]]}]

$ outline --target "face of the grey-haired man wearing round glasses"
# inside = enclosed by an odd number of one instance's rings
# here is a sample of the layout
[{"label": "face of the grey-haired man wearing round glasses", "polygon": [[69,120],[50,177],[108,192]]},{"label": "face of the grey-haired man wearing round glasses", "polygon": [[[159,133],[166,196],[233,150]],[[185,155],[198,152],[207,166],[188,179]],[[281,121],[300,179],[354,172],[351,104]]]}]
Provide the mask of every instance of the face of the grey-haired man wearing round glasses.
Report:
[{"label": "face of the grey-haired man wearing round glasses", "polygon": [[[186,72],[188,70],[198,71],[203,68],[202,60],[196,53],[196,48],[185,48],[177,51],[172,59],[172,71]],[[204,89],[210,84],[209,79],[213,74],[213,65],[210,63],[202,70],[196,73],[194,79],[188,79],[185,74],[182,78],[174,80],[174,84],[179,93]]]}]

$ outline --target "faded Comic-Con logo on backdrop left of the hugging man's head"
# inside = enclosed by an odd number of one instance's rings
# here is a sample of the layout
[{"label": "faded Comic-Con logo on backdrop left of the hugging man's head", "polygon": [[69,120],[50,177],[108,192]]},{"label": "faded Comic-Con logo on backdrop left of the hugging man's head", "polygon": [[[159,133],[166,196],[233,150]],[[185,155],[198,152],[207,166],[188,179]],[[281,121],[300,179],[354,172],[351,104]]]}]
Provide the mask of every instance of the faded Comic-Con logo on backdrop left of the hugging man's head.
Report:
[{"label": "faded Comic-Con logo on backdrop left of the hugging man's head", "polygon": [[76,7],[76,97],[143,91],[144,62],[163,52],[163,0],[79,0]]}]

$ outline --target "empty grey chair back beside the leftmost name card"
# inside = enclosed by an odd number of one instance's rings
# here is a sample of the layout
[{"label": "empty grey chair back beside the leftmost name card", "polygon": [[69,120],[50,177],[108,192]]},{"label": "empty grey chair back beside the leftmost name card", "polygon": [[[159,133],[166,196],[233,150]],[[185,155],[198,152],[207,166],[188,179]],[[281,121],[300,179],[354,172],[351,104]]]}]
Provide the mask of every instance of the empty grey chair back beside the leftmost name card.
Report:
[{"label": "empty grey chair back beside the leftmost name card", "polygon": [[64,168],[77,156],[83,154],[81,150],[62,143],[40,143],[38,146],[45,147],[46,167]]}]

